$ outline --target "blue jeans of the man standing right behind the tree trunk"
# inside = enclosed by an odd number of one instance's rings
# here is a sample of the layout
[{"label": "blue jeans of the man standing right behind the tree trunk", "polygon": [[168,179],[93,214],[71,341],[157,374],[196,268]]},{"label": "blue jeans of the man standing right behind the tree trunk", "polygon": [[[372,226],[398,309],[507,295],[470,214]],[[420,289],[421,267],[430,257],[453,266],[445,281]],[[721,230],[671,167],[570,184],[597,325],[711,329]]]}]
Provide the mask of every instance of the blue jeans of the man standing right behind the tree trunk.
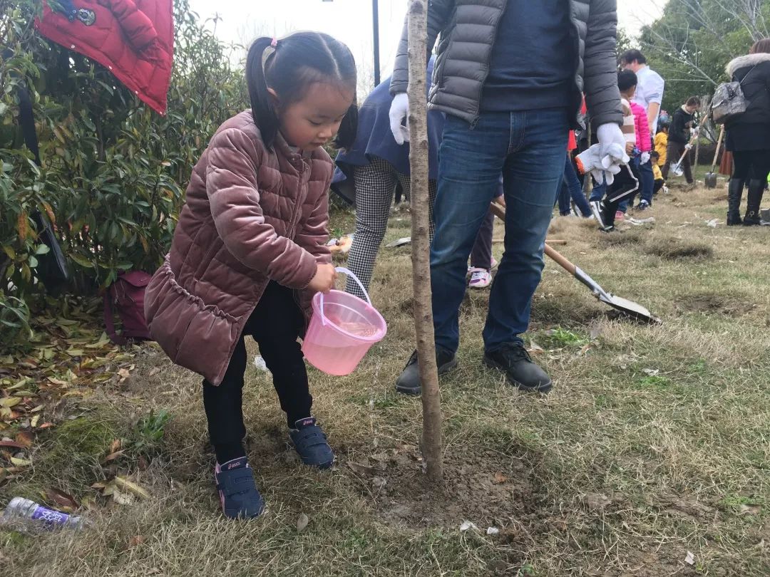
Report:
[{"label": "blue jeans of the man standing right behind the tree trunk", "polygon": [[495,196],[500,172],[506,202],[504,254],[489,300],[484,347],[491,352],[521,342],[532,295],[543,270],[543,249],[564,173],[567,148],[564,108],[529,112],[487,112],[471,128],[448,116],[439,153],[430,245],[437,348],[456,352],[459,312],[465,295],[467,260],[484,215]]}]

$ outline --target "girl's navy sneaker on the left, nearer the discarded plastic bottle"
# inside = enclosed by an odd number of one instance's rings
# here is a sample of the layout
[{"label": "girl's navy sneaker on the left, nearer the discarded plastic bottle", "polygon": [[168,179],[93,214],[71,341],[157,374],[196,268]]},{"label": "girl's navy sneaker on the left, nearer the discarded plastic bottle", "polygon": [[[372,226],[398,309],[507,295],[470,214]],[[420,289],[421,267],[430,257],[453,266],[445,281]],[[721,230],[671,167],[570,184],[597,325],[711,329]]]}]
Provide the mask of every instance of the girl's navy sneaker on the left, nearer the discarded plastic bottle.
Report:
[{"label": "girl's navy sneaker on the left, nearer the discarded plastic bottle", "polygon": [[265,510],[265,502],[256,490],[254,475],[246,457],[233,459],[214,469],[216,489],[222,511],[230,519],[253,519]]}]

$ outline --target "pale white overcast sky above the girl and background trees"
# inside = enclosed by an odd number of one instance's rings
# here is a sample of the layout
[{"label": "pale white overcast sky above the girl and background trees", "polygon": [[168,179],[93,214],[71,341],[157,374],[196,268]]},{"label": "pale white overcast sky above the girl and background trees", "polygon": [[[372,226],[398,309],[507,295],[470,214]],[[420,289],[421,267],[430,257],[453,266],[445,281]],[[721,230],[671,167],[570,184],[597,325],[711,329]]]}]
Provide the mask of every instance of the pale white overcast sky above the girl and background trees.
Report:
[{"label": "pale white overcast sky above the girl and background trees", "polygon": [[[537,0],[534,0],[537,2]],[[636,35],[660,15],[662,0],[618,0],[621,28]],[[296,30],[317,30],[345,42],[363,71],[373,69],[370,0],[190,0],[202,18],[218,14],[216,32],[225,42],[247,44],[259,35],[281,37]],[[390,73],[406,14],[407,0],[380,0],[380,63]]]}]

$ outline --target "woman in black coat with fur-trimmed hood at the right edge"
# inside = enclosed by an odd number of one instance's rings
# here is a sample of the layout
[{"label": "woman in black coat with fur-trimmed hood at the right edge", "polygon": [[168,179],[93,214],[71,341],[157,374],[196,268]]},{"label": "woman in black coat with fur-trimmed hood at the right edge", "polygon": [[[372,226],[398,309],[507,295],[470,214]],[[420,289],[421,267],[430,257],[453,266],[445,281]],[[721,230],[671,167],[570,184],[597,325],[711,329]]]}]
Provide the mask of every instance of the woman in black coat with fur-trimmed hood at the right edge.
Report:
[{"label": "woman in black coat with fur-trimmed hood at the right edge", "polygon": [[727,65],[734,82],[741,82],[748,108],[727,122],[727,149],[733,153],[727,224],[741,224],[741,195],[748,181],[744,225],[758,225],[759,205],[770,173],[770,38],[755,42],[748,55]]}]

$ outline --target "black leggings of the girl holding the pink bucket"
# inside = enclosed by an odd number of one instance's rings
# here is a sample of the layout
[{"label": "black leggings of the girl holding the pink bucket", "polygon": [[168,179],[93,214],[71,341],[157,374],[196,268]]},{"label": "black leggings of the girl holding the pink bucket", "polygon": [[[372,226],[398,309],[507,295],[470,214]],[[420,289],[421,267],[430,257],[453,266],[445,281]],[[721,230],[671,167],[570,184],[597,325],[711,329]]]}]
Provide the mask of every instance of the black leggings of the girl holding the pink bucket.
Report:
[{"label": "black leggings of the girl holding the pink bucket", "polygon": [[243,456],[240,446],[246,435],[242,407],[243,374],[246,372],[244,335],[253,336],[259,344],[259,353],[273,373],[273,386],[281,409],[286,412],[287,423],[293,427],[299,419],[310,416],[313,397],[310,396],[305,361],[297,342],[304,329],[305,318],[294,302],[291,289],[269,282],[246,322],[224,379],[219,386],[203,381],[203,406],[209,421],[209,438],[220,464]]}]

